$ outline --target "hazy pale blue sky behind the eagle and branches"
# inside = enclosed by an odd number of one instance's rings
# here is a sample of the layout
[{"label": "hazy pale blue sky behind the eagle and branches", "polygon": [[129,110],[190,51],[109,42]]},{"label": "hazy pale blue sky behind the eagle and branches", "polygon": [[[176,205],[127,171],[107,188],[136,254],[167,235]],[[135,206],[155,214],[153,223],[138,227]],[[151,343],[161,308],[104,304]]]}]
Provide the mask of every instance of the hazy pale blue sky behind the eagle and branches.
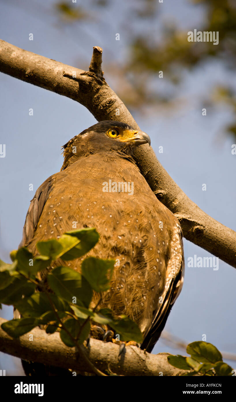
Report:
[{"label": "hazy pale blue sky behind the eagle and branches", "polygon": [[[119,64],[120,59],[127,56],[126,34],[115,41],[115,33],[122,34],[122,15],[128,12],[127,3],[124,0],[112,2],[105,12],[112,23],[106,26],[95,9],[91,10],[91,18],[86,23],[62,25],[55,13],[43,14],[44,7],[50,10],[53,3],[51,0],[26,1],[17,6],[14,0],[0,2],[0,38],[78,68],[87,68],[92,47],[101,46],[105,78],[119,95],[119,89],[112,85],[115,78],[106,74],[106,64],[111,58]],[[178,2],[178,6],[175,0],[164,3],[159,16],[162,21],[176,20],[186,32],[201,26],[204,18],[201,7],[190,6],[187,1]],[[149,29],[145,21],[142,27]],[[29,33],[34,34],[33,41],[28,40]],[[236,87],[236,79],[221,62],[211,60],[183,74],[177,95],[179,107],[160,107],[149,115],[132,113],[141,129],[151,137],[161,164],[181,189],[203,211],[236,230],[236,156],[231,154],[235,140],[224,132],[233,115],[223,105],[207,110],[206,116],[201,114],[203,100],[212,87],[222,83]],[[161,90],[165,92],[168,85],[163,78]],[[69,98],[2,73],[0,88],[0,143],[6,144],[6,157],[0,159],[0,258],[10,261],[9,252],[18,247],[22,237],[30,200],[39,185],[61,168],[61,146],[96,123],[96,119]],[[33,116],[28,115],[30,108],[34,110]],[[159,154],[159,146],[163,146],[163,154]],[[29,191],[29,183],[33,183],[34,191]],[[202,191],[203,183],[207,191]],[[165,330],[187,343],[201,340],[206,334],[207,342],[219,350],[235,353],[235,269],[221,260],[218,271],[188,268],[189,256],[210,254],[187,240],[184,240],[184,252],[185,283]],[[0,315],[11,319],[12,308],[4,307]],[[153,351],[159,352],[184,354],[161,340]],[[233,368],[236,366],[235,362],[228,363]],[[18,360],[2,353],[0,369],[6,369],[8,375],[22,373]]]}]

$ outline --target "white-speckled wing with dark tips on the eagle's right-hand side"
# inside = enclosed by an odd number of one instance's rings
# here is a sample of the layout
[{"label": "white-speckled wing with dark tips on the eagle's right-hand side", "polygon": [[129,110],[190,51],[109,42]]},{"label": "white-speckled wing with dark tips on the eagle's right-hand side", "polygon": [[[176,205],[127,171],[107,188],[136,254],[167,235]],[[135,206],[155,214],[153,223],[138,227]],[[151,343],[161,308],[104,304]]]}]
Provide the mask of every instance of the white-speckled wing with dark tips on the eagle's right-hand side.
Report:
[{"label": "white-speckled wing with dark tips on the eagle's right-hand side", "polygon": [[[153,314],[151,326],[148,328],[148,330],[146,330],[144,340],[141,345],[141,349],[146,349],[146,351],[149,353],[151,353],[153,347],[159,339],[161,332],[165,327],[171,308],[183,287],[184,256],[182,236],[183,234],[181,227],[178,225],[177,230],[175,230],[175,233],[171,239],[171,241],[177,247],[172,247],[172,255],[169,258],[166,270],[167,274],[165,289],[161,299],[159,300],[159,305]],[[177,251],[175,248],[177,248]]]}]

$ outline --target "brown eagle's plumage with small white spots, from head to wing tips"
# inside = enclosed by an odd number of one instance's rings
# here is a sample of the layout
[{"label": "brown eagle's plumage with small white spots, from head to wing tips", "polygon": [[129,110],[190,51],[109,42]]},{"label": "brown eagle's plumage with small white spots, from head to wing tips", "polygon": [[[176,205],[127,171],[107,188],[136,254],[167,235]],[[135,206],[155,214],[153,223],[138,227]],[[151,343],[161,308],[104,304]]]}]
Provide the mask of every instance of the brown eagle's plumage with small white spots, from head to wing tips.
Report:
[{"label": "brown eagle's plumage with small white spots, from head to wing tips", "polygon": [[[117,137],[108,135],[111,129]],[[58,238],[75,222],[77,228],[96,228],[100,240],[85,257],[117,261],[100,307],[134,320],[144,334],[142,348],[151,351],[181,290],[184,261],[178,220],[132,158],[132,148],[147,142],[145,133],[116,121],[102,121],[71,139],[61,172],[49,177],[31,201],[21,246],[35,253],[39,240]],[[109,180],[132,182],[133,194],[105,192]],[[83,258],[63,264],[79,271]],[[93,304],[97,301],[94,295]]]}]

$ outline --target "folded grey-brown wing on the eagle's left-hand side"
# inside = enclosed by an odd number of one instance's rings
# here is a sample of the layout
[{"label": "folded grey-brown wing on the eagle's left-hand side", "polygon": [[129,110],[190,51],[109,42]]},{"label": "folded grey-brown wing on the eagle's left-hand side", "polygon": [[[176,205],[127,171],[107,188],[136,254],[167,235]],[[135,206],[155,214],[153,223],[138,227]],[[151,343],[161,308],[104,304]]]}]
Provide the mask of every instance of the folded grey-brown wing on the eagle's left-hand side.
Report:
[{"label": "folded grey-brown wing on the eagle's left-hand side", "polygon": [[43,211],[45,202],[49,198],[49,193],[53,188],[53,181],[55,179],[50,176],[45,182],[37,189],[34,198],[31,200],[28,212],[26,214],[23,236],[19,247],[27,246],[33,239],[35,229],[39,222],[39,217]]}]

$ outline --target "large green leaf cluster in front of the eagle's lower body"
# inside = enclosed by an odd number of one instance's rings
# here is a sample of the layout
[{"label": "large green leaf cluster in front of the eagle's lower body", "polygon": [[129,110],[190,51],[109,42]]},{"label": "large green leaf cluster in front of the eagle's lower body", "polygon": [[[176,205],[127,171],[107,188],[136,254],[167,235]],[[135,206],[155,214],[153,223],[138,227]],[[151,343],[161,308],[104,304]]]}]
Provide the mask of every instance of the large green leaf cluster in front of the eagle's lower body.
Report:
[{"label": "large green leaf cluster in front of the eagle's lower body", "polygon": [[47,333],[59,331],[63,343],[74,347],[89,337],[91,324],[98,323],[112,328],[120,340],[142,342],[138,326],[128,317],[90,306],[94,292],[101,297],[110,288],[114,260],[87,257],[81,273],[66,265],[55,267],[59,258],[80,258],[98,239],[94,228],[75,230],[57,240],[38,242],[37,256],[23,247],[11,252],[12,264],[0,260],[0,303],[13,305],[21,317],[5,322],[2,329],[18,338],[43,325]]}]

